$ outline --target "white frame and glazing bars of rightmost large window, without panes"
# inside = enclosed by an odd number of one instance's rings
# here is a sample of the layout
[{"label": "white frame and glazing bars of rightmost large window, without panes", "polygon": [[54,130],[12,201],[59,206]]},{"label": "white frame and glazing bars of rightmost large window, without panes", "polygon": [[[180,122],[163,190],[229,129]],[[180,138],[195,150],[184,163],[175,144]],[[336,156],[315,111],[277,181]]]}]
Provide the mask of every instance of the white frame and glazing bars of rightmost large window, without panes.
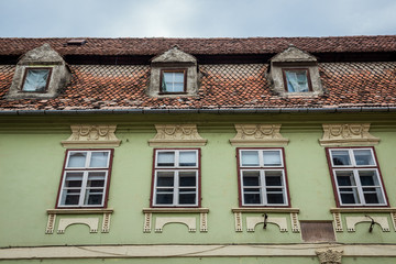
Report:
[{"label": "white frame and glazing bars of rightmost large window, without panes", "polygon": [[[351,161],[351,165],[334,165],[333,163],[333,151],[345,151],[348,152],[348,155],[349,155],[349,158]],[[353,151],[370,151],[371,153],[371,158],[372,161],[374,162],[373,165],[358,165],[356,164],[356,161],[355,161],[355,156],[353,154]],[[331,166],[330,169],[331,169],[331,173],[332,173],[332,179],[333,179],[333,184],[336,186],[336,193],[337,193],[337,197],[338,197],[338,200],[339,200],[339,204],[340,206],[387,206],[387,198],[386,198],[386,194],[385,194],[385,188],[384,188],[384,185],[383,185],[383,182],[382,182],[382,177],[381,177],[381,173],[380,173],[380,166],[377,164],[377,161],[376,161],[376,156],[375,156],[375,153],[374,153],[374,148],[372,147],[334,147],[334,148],[331,148],[329,147],[328,148],[328,153],[329,153],[329,158],[330,158],[330,162],[329,162],[329,165]],[[367,172],[375,172],[375,175],[376,175],[376,180],[378,182],[378,185],[374,185],[374,186],[363,186],[362,183],[361,183],[361,179],[360,179],[360,175],[359,175],[359,172],[364,172],[364,170],[367,170]],[[355,183],[355,186],[351,185],[351,187],[348,187],[348,186],[339,186],[338,184],[338,180],[337,180],[337,172],[349,172],[351,173],[351,175],[353,176],[353,180]],[[354,202],[354,204],[344,204],[342,202],[342,199],[341,199],[341,193],[343,188],[355,188],[356,189],[356,194],[358,194],[358,199],[360,202]],[[381,196],[382,197],[378,197],[378,200],[383,200],[384,202],[382,204],[367,204],[365,201],[365,198],[364,198],[364,194],[365,191],[363,190],[363,188],[380,188],[381,189]],[[369,193],[369,191],[366,191]],[[355,199],[356,200],[356,199]]]}]

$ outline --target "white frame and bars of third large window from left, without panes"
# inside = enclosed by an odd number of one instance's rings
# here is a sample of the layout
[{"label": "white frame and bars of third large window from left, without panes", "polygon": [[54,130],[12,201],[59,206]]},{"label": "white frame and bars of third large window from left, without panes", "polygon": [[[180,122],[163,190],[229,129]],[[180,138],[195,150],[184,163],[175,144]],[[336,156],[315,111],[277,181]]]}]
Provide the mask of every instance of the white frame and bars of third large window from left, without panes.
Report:
[{"label": "white frame and bars of third large window from left, without panes", "polygon": [[[249,152],[254,151],[258,153],[258,165],[257,166],[243,166],[242,164],[242,152]],[[275,166],[267,166],[264,165],[264,152],[278,152],[279,158],[280,158],[280,165]],[[283,148],[238,148],[238,156],[239,156],[239,180],[240,180],[240,199],[241,205],[244,207],[287,207],[289,206],[288,201],[288,187],[287,187],[287,180],[286,180],[286,166],[284,161],[284,150]],[[244,186],[243,185],[243,172],[258,172],[260,178],[258,178],[258,186]],[[282,174],[282,186],[271,186],[270,188],[280,188],[283,194],[283,204],[270,204],[267,201],[267,193],[274,194],[273,191],[267,191],[266,183],[265,183],[265,173],[266,172],[280,172]],[[246,204],[244,199],[245,189],[249,188],[255,188],[260,189],[260,204]]]}]

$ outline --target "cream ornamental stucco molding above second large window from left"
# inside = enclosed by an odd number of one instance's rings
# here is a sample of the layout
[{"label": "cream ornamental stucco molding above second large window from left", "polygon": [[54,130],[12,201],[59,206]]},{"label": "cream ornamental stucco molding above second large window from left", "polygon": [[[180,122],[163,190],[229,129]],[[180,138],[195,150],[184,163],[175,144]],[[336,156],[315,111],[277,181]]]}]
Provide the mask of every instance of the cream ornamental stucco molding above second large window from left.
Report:
[{"label": "cream ornamental stucco molding above second large window from left", "polygon": [[197,124],[155,124],[157,131],[150,146],[206,145],[207,140],[198,134]]}]

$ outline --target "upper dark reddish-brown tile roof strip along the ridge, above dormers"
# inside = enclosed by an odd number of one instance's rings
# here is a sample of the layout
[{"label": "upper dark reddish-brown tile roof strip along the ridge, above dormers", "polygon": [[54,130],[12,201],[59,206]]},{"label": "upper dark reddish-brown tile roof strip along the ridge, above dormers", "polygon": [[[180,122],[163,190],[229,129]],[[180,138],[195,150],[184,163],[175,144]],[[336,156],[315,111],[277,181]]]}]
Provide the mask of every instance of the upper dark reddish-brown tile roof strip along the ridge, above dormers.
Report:
[{"label": "upper dark reddish-brown tile roof strip along the ridge, above dormers", "polygon": [[[79,37],[84,38],[84,37]],[[174,45],[194,55],[275,54],[294,44],[309,53],[395,52],[396,35],[337,37],[249,38],[85,38],[87,44],[66,46],[73,38],[0,38],[0,55],[22,55],[48,43],[61,55],[157,55]]]}]

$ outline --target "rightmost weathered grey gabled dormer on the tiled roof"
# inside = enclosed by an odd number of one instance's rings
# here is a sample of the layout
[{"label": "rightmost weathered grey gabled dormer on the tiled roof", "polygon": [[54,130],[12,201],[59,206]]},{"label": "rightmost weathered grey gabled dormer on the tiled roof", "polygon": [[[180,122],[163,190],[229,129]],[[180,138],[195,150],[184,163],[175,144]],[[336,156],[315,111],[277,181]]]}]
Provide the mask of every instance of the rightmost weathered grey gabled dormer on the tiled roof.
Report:
[{"label": "rightmost weathered grey gabled dormer on the tiled roof", "polygon": [[[301,77],[304,76],[302,72],[306,73],[307,89],[293,89],[288,87],[288,78],[292,77],[286,76],[286,74],[299,73],[298,76]],[[268,77],[273,90],[283,97],[311,97],[323,94],[317,58],[293,45],[271,59]]]}]

